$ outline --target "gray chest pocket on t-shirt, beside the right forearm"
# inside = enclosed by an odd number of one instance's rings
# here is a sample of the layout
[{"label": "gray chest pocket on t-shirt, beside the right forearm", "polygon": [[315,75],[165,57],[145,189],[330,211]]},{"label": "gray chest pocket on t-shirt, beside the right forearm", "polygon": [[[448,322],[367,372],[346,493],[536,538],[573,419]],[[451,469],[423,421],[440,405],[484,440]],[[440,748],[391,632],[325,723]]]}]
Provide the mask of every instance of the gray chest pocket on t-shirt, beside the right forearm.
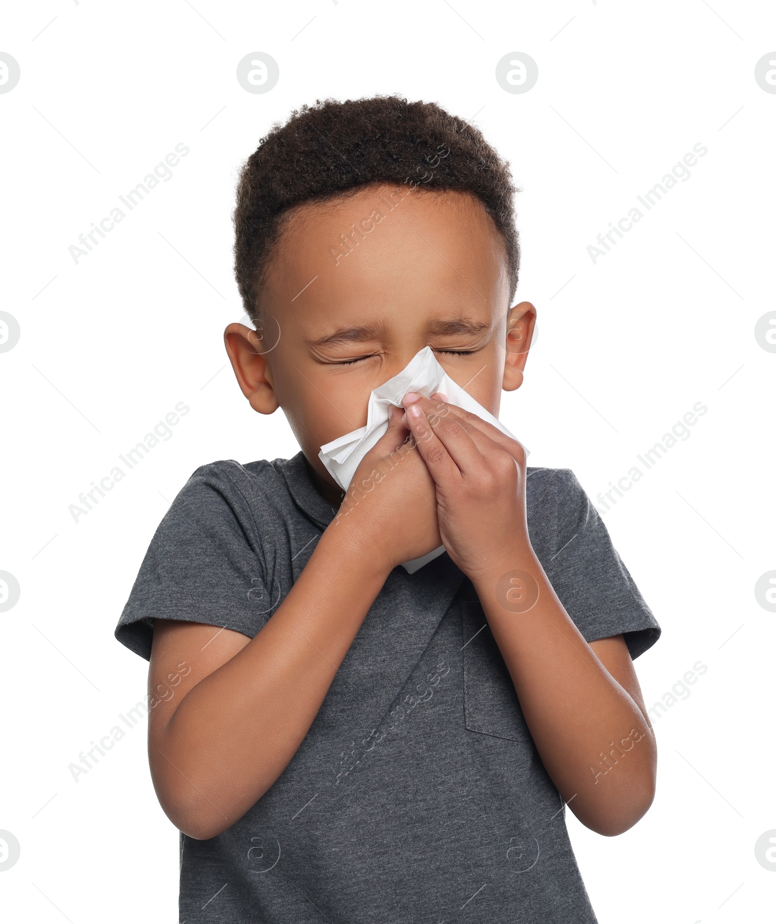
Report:
[{"label": "gray chest pocket on t-shirt, beside the right forearm", "polygon": [[464,655],[464,720],[470,732],[507,738],[526,746],[533,740],[512,677],[479,602],[461,606]]}]

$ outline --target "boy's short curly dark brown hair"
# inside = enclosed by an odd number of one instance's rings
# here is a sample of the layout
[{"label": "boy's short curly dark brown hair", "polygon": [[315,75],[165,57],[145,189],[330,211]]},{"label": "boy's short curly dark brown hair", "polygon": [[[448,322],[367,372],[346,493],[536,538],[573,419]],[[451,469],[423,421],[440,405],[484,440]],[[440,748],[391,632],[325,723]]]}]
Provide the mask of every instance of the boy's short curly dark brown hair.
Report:
[{"label": "boy's short curly dark brown hair", "polygon": [[[430,176],[429,176],[430,174]],[[316,101],[276,123],[243,165],[237,184],[235,276],[248,316],[259,296],[283,218],[294,206],[378,183],[468,192],[503,238],[515,295],[520,264],[509,163],[475,128],[436,103],[400,96]]]}]

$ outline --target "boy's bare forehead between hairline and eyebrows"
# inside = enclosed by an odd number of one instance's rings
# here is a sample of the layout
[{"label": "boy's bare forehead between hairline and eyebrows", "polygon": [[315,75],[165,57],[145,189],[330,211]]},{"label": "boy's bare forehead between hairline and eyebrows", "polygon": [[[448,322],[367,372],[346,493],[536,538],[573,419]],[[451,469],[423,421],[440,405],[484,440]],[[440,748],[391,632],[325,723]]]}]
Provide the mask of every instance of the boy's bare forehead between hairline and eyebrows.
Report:
[{"label": "boy's bare forehead between hairline and eyebrows", "polygon": [[289,213],[262,307],[315,334],[396,314],[490,319],[507,299],[503,241],[479,199],[381,184]]}]

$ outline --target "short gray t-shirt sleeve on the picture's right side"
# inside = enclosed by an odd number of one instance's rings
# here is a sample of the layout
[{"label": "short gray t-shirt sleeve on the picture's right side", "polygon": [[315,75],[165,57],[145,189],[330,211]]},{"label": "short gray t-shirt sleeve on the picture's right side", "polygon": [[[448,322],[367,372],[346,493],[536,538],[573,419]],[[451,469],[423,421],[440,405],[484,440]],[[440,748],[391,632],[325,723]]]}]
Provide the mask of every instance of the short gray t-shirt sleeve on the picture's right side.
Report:
[{"label": "short gray t-shirt sleeve on the picture's right side", "polygon": [[637,658],[660,638],[661,627],[574,472],[559,469],[552,487],[558,519],[547,577],[586,641],[622,634]]}]

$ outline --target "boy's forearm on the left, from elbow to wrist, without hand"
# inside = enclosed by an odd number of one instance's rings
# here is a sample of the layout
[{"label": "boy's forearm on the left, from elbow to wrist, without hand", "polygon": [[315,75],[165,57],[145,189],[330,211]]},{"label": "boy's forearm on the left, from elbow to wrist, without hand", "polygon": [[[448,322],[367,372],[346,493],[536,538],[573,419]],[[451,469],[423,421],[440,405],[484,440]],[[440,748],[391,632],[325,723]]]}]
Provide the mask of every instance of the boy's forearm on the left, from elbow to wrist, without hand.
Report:
[{"label": "boy's forearm on the left, from elbow to wrist, without hand", "polygon": [[385,577],[327,530],[261,632],[154,723],[154,785],[181,830],[224,831],[284,771]]}]

